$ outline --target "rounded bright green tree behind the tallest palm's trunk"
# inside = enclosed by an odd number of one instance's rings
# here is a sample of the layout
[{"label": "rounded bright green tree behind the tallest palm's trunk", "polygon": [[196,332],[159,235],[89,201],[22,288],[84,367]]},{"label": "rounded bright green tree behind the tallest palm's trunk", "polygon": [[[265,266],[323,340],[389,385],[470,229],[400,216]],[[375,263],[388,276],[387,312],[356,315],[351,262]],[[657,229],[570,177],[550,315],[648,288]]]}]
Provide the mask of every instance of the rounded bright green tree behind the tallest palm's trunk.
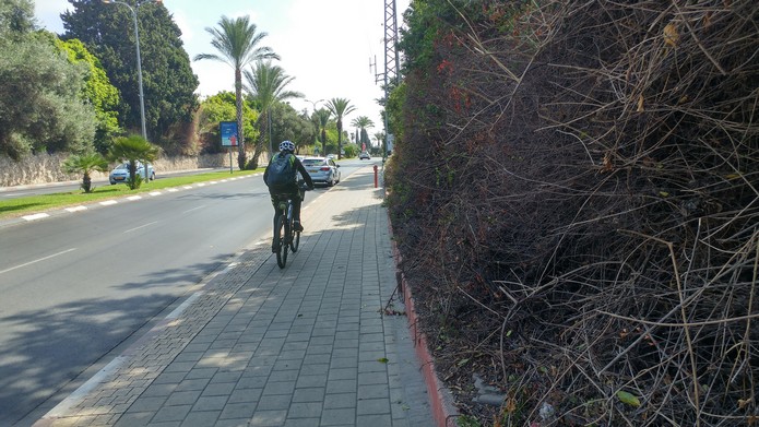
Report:
[{"label": "rounded bright green tree behind the tallest palm's trunk", "polygon": [[[235,94],[232,92],[220,92],[214,96],[205,98],[198,110],[198,134],[201,142],[202,153],[220,153],[223,151],[218,123],[222,121],[235,121],[236,106]],[[251,107],[251,103],[242,104],[242,126],[244,133],[251,139],[258,137],[256,122],[259,112]]]}]

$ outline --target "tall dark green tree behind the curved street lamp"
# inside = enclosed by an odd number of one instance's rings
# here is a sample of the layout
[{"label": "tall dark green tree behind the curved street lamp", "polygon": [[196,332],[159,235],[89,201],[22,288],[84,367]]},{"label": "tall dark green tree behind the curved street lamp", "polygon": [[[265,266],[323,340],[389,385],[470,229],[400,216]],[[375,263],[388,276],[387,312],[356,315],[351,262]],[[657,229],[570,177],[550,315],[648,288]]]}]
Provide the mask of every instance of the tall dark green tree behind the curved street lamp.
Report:
[{"label": "tall dark green tree behind the curved street lamp", "polygon": [[[175,126],[192,119],[198,106],[192,73],[179,27],[166,8],[153,1],[124,0],[137,13],[140,31],[147,134],[164,145]],[[140,90],[134,15],[123,4],[69,0],[61,15],[63,39],[78,38],[99,58],[110,82],[121,94],[119,112],[126,127],[140,129]]]}]

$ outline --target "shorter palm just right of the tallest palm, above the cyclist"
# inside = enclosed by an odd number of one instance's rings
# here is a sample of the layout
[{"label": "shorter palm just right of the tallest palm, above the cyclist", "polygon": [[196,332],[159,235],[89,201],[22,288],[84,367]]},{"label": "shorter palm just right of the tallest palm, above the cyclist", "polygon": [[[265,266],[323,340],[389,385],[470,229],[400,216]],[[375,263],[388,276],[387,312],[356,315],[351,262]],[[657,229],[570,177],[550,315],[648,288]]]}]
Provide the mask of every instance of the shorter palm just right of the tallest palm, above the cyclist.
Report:
[{"label": "shorter palm just right of the tallest palm, above the cyclist", "polygon": [[[262,115],[259,116],[259,143],[253,151],[251,168],[258,167],[258,157],[263,150],[263,141],[266,138],[269,122],[271,122],[271,107],[286,99],[303,98],[304,94],[295,91],[287,91],[286,86],[293,79],[285,74],[285,70],[280,66],[272,66],[271,61],[258,61],[250,71],[245,71],[245,79],[248,82],[246,90],[257,100]],[[271,138],[269,139],[269,152],[273,151]]]}]

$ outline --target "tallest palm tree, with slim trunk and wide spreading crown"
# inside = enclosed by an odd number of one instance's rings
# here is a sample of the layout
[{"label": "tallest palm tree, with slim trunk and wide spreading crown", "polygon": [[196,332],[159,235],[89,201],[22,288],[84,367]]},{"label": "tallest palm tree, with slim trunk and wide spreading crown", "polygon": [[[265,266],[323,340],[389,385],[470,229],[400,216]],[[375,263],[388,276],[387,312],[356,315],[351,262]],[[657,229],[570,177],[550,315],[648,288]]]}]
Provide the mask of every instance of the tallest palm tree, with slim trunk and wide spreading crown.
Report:
[{"label": "tallest palm tree, with slim trunk and wide spreading crown", "polygon": [[214,61],[225,62],[235,69],[235,100],[237,104],[237,164],[240,169],[245,169],[245,140],[242,135],[242,69],[261,59],[280,59],[280,56],[266,46],[259,46],[259,43],[269,34],[257,33],[256,24],[250,22],[248,16],[230,20],[222,16],[217,28],[206,27],[213,39],[211,46],[218,50],[216,54],[200,54],[194,60],[213,59]]}]

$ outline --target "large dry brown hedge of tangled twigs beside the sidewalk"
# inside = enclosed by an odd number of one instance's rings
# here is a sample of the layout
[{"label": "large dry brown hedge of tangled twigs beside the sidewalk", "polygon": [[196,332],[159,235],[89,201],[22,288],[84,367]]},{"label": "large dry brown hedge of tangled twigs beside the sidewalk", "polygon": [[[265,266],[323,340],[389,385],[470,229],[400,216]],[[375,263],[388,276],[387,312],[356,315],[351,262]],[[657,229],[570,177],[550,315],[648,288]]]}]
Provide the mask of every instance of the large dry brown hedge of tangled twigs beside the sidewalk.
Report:
[{"label": "large dry brown hedge of tangled twigs beside the sidewalk", "polygon": [[758,3],[535,1],[508,32],[499,8],[406,75],[388,174],[462,412],[759,424]]}]

